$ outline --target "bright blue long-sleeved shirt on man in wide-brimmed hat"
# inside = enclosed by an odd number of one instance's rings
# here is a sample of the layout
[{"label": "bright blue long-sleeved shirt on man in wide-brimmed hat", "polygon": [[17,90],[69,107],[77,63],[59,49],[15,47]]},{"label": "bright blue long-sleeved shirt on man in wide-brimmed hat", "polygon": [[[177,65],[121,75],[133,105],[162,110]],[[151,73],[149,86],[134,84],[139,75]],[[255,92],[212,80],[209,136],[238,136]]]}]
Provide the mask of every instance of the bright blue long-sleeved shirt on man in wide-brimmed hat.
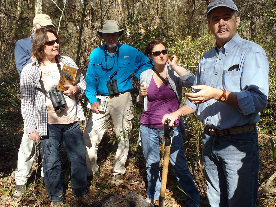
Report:
[{"label": "bright blue long-sleeved shirt on man in wide-brimmed hat", "polygon": [[[97,101],[97,92],[108,95],[106,81],[115,79],[119,92],[124,92],[132,88],[131,75],[134,72],[134,75],[140,80],[140,74],[152,67],[147,56],[125,44],[118,44],[116,52],[112,56],[107,51],[105,61],[105,48],[105,45],[95,48],[90,54],[85,79],[87,84],[85,94],[90,103]],[[117,54],[119,55],[117,56]],[[117,75],[110,79],[114,72],[117,72]]]}]

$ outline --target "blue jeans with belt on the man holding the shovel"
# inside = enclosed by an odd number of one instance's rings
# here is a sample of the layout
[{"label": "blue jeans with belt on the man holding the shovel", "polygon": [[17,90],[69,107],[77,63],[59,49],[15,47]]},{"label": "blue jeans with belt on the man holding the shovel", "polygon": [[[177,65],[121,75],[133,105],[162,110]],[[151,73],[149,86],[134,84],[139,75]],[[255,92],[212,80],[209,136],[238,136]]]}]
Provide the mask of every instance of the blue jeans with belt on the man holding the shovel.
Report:
[{"label": "blue jeans with belt on the man holding the shovel", "polygon": [[254,207],[258,193],[259,144],[257,130],[203,135],[203,163],[212,207]]}]

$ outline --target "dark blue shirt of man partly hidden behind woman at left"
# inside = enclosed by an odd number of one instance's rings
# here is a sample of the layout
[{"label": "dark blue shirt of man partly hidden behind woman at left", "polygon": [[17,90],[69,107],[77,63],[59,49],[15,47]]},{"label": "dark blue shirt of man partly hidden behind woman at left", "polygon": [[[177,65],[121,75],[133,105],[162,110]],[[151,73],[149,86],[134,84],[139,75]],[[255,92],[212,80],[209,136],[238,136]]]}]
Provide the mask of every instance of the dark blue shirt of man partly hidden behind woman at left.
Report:
[{"label": "dark blue shirt of man partly hidden behind woman at left", "polygon": [[27,37],[25,39],[20,39],[16,42],[14,48],[14,58],[15,65],[18,71],[19,76],[21,76],[22,69],[25,65],[33,62],[31,59],[31,48],[32,48],[32,36]]}]

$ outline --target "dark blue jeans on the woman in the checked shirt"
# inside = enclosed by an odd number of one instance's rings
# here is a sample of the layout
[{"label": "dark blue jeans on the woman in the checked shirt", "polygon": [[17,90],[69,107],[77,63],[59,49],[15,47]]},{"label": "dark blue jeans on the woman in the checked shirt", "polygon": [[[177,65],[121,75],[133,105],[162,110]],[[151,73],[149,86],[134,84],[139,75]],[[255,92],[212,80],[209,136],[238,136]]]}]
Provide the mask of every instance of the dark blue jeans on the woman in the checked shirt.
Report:
[{"label": "dark blue jeans on the woman in the checked shirt", "polygon": [[44,182],[51,202],[62,201],[61,154],[63,145],[71,162],[71,186],[75,197],[87,193],[87,165],[79,122],[48,124],[48,135],[40,142]]}]

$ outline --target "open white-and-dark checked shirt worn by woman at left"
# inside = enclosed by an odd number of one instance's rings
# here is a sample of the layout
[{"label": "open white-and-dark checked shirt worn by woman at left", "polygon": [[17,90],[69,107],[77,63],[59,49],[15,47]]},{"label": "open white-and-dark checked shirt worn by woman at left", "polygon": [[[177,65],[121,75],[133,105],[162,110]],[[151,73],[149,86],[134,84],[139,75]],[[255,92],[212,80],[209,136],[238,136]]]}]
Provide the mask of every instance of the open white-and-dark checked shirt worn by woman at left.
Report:
[{"label": "open white-and-dark checked shirt worn by woman at left", "polygon": [[[69,57],[60,56],[64,65],[78,68],[76,63]],[[40,85],[41,70],[38,61],[26,65],[21,73],[21,113],[26,127],[26,133],[37,131],[38,135],[47,135],[47,108],[46,96],[36,90]],[[79,92],[75,95],[77,117],[84,120],[84,113],[78,96],[82,95],[86,89],[84,76],[81,74],[79,83]]]}]

